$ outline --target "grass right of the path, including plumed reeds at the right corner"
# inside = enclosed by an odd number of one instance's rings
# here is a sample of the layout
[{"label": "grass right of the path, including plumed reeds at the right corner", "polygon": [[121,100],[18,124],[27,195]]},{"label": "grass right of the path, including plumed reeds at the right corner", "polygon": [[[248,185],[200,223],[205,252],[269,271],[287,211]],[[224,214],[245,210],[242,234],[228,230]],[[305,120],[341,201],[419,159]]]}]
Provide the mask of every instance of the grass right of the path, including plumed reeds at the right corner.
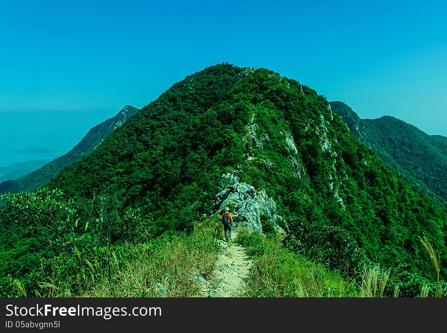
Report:
[{"label": "grass right of the path, including plumed reeds at the right corner", "polygon": [[[436,297],[447,296],[439,281],[439,260],[429,241],[422,238],[436,273]],[[357,280],[345,280],[337,271],[315,264],[282,247],[274,236],[241,232],[238,243],[246,248],[254,263],[245,292],[246,297],[428,297],[431,284],[412,280],[401,271],[365,265]],[[408,279],[409,277],[409,279]],[[403,278],[399,281],[399,278]],[[420,286],[420,294],[410,289]],[[404,293],[406,296],[400,296]]]}]

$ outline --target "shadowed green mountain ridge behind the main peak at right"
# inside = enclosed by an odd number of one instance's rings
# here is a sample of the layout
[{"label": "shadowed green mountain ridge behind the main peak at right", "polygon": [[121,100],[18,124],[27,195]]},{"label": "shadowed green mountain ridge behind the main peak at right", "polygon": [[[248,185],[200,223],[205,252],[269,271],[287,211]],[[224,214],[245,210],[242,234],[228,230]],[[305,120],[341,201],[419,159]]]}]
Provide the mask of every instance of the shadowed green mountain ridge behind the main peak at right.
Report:
[{"label": "shadowed green mountain ridge behind the main peak at right", "polygon": [[361,119],[343,102],[330,102],[349,130],[399,175],[447,201],[447,138],[428,135],[392,116]]}]

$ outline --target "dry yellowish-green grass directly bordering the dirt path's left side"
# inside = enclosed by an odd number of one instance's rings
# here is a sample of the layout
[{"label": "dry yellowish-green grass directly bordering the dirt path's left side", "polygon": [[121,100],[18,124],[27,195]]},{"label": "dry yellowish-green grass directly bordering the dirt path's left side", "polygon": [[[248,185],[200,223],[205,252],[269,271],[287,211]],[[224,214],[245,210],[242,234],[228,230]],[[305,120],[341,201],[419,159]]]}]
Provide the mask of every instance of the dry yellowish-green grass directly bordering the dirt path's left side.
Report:
[{"label": "dry yellowish-green grass directly bordering the dirt path's left side", "polygon": [[191,272],[207,278],[219,252],[215,221],[195,225],[190,235],[161,237],[145,245],[127,244],[132,258],[114,271],[113,283],[95,285],[90,297],[194,297],[199,285]]}]

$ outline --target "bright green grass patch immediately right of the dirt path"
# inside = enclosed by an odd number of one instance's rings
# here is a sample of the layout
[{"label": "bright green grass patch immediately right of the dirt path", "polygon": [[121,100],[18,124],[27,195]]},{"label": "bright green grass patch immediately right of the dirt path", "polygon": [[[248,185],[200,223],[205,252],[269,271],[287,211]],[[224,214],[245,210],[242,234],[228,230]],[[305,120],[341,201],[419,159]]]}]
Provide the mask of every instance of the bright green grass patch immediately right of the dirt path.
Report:
[{"label": "bright green grass patch immediately right of the dirt path", "polygon": [[275,237],[240,232],[237,242],[254,259],[245,297],[356,297],[353,283],[282,248]]}]

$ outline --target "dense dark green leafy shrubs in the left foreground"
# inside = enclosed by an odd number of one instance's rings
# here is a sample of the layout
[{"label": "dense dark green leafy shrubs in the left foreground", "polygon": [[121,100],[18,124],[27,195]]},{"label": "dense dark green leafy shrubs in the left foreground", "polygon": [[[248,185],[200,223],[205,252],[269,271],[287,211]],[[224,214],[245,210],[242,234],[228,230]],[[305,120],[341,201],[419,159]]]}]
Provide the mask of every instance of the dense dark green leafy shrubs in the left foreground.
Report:
[{"label": "dense dark green leafy shrubs in the left foreground", "polygon": [[[113,195],[66,199],[60,190],[2,194],[0,289],[11,295],[17,283],[38,290],[42,283],[75,278],[85,261],[109,268],[113,251],[126,241],[147,241],[151,217],[124,209]],[[82,259],[81,259],[82,258]],[[18,280],[17,280],[18,278]],[[108,278],[108,277],[106,277]],[[80,292],[84,285],[73,285]]]}]

